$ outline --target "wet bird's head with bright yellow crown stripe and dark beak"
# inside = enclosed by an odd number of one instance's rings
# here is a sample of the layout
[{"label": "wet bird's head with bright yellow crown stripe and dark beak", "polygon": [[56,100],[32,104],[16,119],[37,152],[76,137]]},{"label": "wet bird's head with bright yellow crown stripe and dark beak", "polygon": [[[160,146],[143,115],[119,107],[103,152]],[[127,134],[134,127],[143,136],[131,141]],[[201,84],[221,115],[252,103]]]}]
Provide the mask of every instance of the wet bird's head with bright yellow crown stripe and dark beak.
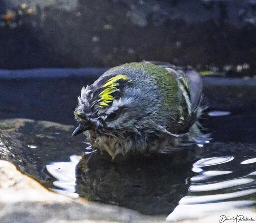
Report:
[{"label": "wet bird's head with bright yellow crown stripe and dark beak", "polygon": [[124,95],[132,84],[126,75],[100,78],[82,88],[74,115],[79,126],[73,135],[85,132],[93,147],[107,151],[113,158],[123,151],[126,133],[133,132],[137,120],[134,98]]}]

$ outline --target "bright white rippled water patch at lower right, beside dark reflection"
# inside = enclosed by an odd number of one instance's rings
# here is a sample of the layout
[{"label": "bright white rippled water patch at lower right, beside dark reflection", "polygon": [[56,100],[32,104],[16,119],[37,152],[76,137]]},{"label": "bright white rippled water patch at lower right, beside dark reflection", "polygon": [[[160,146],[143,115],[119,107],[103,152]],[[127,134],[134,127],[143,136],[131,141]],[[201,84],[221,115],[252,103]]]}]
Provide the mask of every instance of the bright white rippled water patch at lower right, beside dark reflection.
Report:
[{"label": "bright white rippled water patch at lower right, beside dark reflection", "polygon": [[212,211],[225,214],[228,209],[255,205],[255,166],[241,166],[250,160],[255,161],[255,158],[241,161],[236,155],[204,158],[195,162],[193,171],[198,174],[190,179],[187,195],[167,219],[198,218]]}]

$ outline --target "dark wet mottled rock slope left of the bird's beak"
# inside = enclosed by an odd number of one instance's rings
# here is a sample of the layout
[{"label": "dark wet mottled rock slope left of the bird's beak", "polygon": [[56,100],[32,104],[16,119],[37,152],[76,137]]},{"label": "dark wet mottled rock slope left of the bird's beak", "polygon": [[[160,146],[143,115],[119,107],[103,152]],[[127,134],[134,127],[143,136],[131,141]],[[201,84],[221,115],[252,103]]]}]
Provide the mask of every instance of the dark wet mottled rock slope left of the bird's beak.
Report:
[{"label": "dark wet mottled rock slope left of the bird's beak", "polygon": [[[46,183],[43,180],[46,176],[41,170],[49,159],[66,160],[70,154],[81,154],[84,150],[82,140],[71,138],[72,129],[72,126],[46,121],[1,120],[0,159],[11,161],[22,172]],[[70,148],[70,154],[63,149],[66,147]]]}]

